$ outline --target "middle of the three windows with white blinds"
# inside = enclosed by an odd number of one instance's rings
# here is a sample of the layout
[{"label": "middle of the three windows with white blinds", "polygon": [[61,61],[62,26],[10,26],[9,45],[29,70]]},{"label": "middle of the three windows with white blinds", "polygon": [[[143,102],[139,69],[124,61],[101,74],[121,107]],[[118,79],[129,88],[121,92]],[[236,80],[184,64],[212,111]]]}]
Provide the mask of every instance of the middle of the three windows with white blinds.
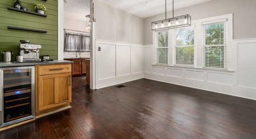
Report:
[{"label": "middle of the three windows with white blinds", "polygon": [[174,64],[194,66],[196,26],[176,29],[174,31]]}]

